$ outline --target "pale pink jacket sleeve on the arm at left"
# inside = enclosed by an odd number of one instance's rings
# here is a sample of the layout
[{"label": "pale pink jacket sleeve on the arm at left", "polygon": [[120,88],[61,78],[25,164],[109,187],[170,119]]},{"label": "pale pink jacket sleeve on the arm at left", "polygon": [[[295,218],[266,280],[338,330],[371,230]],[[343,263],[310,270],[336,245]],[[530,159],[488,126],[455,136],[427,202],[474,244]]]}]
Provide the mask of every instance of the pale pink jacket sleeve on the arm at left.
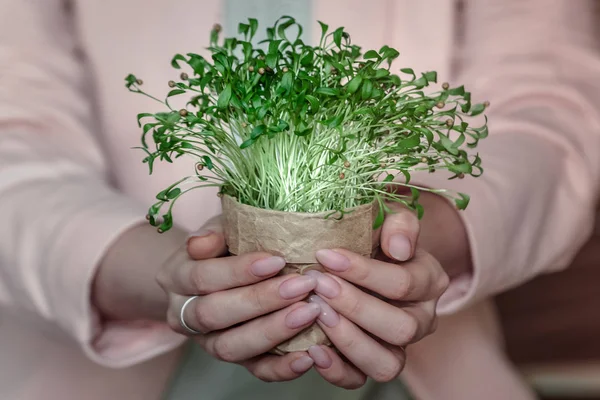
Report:
[{"label": "pale pink jacket sleeve on the arm at left", "polygon": [[90,305],[99,260],[145,209],[108,183],[70,22],[62,1],[2,2],[0,306],[56,324],[96,361],[122,366],[182,339],[164,325],[102,329]]}]

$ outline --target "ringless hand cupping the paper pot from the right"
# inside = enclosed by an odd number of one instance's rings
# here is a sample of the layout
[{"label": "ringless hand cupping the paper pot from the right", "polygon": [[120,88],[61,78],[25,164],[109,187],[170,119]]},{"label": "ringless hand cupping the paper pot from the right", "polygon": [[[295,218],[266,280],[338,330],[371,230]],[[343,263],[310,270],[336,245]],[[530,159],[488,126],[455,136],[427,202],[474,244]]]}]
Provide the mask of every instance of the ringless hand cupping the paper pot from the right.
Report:
[{"label": "ringless hand cupping the paper pot from the right", "polygon": [[362,386],[367,376],[391,381],[404,367],[404,347],[434,332],[436,304],[449,278],[417,248],[418,236],[417,217],[396,206],[381,230],[384,254],[376,259],[343,249],[317,252],[327,273],[309,272],[318,294],[309,300],[320,304],[318,323],[346,358],[327,346],[309,349],[327,381],[348,389]]}]

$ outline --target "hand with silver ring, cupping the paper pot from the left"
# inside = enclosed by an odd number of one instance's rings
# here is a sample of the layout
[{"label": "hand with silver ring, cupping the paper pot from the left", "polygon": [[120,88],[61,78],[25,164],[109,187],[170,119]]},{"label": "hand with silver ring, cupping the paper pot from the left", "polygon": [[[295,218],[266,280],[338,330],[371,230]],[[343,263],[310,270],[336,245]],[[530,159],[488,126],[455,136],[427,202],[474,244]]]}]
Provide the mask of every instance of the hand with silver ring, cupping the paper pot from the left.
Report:
[{"label": "hand with silver ring, cupping the paper pot from the left", "polygon": [[315,289],[310,276],[276,276],[285,266],[268,253],[228,256],[219,219],[192,236],[158,273],[169,296],[167,321],[176,332],[190,335],[180,323],[202,334],[193,339],[213,357],[246,367],[264,381],[298,378],[312,365],[307,352],[265,354],[315,322],[320,307],[302,301]]}]

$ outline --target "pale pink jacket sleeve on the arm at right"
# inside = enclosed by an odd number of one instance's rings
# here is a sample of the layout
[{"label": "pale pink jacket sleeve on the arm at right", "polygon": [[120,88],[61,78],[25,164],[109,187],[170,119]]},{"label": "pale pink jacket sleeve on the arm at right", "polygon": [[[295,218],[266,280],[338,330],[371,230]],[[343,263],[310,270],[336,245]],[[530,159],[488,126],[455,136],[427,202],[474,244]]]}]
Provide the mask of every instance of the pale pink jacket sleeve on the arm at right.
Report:
[{"label": "pale pink jacket sleeve on the arm at right", "polygon": [[600,182],[600,58],[593,2],[482,0],[465,9],[456,81],[489,100],[480,178],[421,184],[471,195],[461,212],[474,272],[455,279],[455,312],[569,265],[593,229]]}]

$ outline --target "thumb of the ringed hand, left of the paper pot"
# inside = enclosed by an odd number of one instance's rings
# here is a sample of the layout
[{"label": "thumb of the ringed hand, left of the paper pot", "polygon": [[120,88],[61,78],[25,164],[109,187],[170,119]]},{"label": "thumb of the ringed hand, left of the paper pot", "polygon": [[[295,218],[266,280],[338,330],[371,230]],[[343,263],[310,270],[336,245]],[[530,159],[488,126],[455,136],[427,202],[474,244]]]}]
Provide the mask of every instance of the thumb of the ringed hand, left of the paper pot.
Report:
[{"label": "thumb of the ringed hand, left of the paper pot", "polygon": [[220,215],[210,219],[202,228],[189,235],[187,252],[193,260],[205,260],[227,254]]}]

